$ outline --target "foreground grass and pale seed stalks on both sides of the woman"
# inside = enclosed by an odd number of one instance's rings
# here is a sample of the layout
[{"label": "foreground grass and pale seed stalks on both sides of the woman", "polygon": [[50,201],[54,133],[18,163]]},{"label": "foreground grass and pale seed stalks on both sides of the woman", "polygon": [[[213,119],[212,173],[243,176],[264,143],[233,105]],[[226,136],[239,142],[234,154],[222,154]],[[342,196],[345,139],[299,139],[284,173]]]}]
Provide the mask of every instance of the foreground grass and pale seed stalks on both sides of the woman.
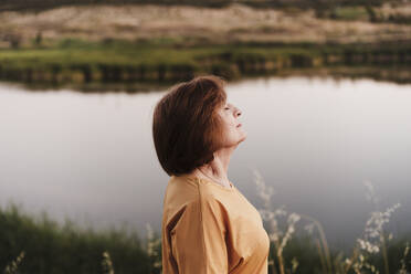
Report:
[{"label": "foreground grass and pale seed stalks on both sides of the woman", "polygon": [[[373,211],[351,252],[331,250],[322,224],[309,215],[272,207],[273,187],[254,170],[271,241],[270,274],[407,274],[410,235],[394,239],[384,230],[399,203],[381,210],[370,182],[366,198]],[[297,234],[297,228],[306,233]],[[161,236],[147,223],[147,244],[125,230],[94,232],[68,222],[60,226],[46,215],[35,220],[11,203],[0,210],[0,271],[11,273],[160,274]]]}]

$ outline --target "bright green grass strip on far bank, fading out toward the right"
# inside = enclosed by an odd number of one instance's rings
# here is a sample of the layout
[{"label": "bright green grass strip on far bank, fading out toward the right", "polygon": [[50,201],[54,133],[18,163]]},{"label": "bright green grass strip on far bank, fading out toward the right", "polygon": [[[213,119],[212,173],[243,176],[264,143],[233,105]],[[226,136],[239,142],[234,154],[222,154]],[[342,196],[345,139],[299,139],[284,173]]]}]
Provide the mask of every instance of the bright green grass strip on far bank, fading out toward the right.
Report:
[{"label": "bright green grass strip on far bank, fading out toward the right", "polygon": [[182,48],[183,45],[150,41],[149,43],[133,43],[128,41],[113,41],[108,44],[86,42],[81,40],[64,40],[46,49],[1,50],[0,62],[15,66],[38,65],[45,67],[50,64],[68,66],[71,64],[120,64],[120,65],[158,65],[191,64],[196,60],[207,56],[217,56],[230,52],[233,59],[238,56],[261,56],[273,59],[294,53],[316,54],[318,51],[304,48],[262,48],[253,45],[203,45]]}]

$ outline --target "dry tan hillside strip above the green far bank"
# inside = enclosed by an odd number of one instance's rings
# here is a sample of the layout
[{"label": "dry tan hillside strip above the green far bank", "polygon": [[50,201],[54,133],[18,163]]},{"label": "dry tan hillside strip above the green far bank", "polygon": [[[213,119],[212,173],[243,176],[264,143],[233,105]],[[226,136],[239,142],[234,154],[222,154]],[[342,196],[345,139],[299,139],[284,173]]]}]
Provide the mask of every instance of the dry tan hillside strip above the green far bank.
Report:
[{"label": "dry tan hillside strip above the green far bank", "polygon": [[223,9],[194,7],[89,6],[63,7],[42,12],[1,12],[0,40],[41,32],[43,38],[199,38],[214,42],[367,42],[411,41],[411,25],[319,20],[313,10],[286,13],[233,4]]}]

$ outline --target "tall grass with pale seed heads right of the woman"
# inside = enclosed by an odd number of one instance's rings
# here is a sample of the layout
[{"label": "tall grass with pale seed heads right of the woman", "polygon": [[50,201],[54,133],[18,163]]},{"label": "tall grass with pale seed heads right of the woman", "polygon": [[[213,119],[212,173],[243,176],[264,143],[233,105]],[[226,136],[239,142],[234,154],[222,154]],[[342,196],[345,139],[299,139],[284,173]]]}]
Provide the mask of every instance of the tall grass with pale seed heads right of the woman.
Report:
[{"label": "tall grass with pale seed heads right of the woman", "polygon": [[[409,254],[408,241],[399,241],[389,246],[389,241],[392,240],[392,233],[384,231],[384,224],[390,220],[392,213],[400,207],[399,203],[393,204],[384,211],[380,211],[378,197],[376,196],[372,185],[368,181],[365,182],[367,187],[366,197],[375,205],[375,211],[371,212],[370,218],[367,220],[363,231],[363,236],[357,239],[356,245],[352,249],[352,254],[345,256],[342,252],[331,255],[328,247],[326,235],[320,223],[312,217],[301,215],[295,212],[287,213],[284,207],[280,209],[273,209],[271,207],[271,197],[274,193],[272,187],[267,187],[257,170],[254,170],[255,185],[257,187],[259,196],[264,202],[264,208],[260,209],[263,220],[268,222],[270,225],[270,239],[273,242],[274,250],[270,253],[268,265],[271,266],[272,274],[286,274],[286,273],[407,273],[407,268],[410,267],[410,261],[407,261]],[[278,226],[278,217],[287,217],[287,226],[283,232]],[[293,259],[285,260],[284,249],[287,242],[293,236],[296,223],[305,219],[309,223],[306,229],[310,231],[310,236],[315,243],[317,250],[317,259],[319,259],[320,267],[310,267],[309,272],[296,271],[301,267],[298,263],[298,255],[304,255],[304,252],[299,254],[293,254]],[[313,233],[313,229],[317,229],[317,235]],[[308,245],[313,242],[308,241]],[[404,245],[404,246],[403,246]],[[403,256],[398,264],[398,256],[392,257],[389,254],[389,250],[393,253],[398,253],[398,250],[403,247]],[[288,267],[286,267],[288,265]]]}]

